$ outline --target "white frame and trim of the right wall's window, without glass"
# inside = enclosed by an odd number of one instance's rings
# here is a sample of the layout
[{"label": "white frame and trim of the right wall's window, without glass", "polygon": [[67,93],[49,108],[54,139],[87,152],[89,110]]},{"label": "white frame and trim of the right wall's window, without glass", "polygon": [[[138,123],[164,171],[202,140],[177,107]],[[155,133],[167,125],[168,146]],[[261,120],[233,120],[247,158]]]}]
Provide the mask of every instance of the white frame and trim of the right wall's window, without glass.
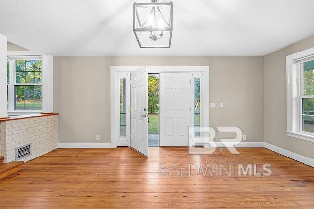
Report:
[{"label": "white frame and trim of the right wall's window, without glass", "polygon": [[287,135],[314,142],[314,134],[302,131],[302,98],[301,95],[303,77],[301,76],[300,63],[296,60],[306,59],[314,55],[314,47],[302,52],[297,52],[286,57],[286,79],[287,79]]}]

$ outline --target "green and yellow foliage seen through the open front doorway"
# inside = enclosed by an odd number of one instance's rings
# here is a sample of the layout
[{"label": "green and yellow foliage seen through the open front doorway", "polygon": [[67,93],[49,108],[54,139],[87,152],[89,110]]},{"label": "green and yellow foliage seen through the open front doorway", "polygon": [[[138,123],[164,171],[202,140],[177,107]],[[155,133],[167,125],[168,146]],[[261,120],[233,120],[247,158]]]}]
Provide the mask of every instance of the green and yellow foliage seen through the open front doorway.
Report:
[{"label": "green and yellow foliage seen through the open front doorway", "polygon": [[159,78],[153,75],[148,76],[148,114],[159,112]]}]

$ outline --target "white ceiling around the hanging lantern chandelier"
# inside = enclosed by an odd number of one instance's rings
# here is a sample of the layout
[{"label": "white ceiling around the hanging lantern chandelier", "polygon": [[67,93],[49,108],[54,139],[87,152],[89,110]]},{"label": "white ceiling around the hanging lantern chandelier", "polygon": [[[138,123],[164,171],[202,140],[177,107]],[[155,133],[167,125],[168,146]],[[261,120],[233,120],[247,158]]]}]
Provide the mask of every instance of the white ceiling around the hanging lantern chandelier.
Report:
[{"label": "white ceiling around the hanging lantern chandelier", "polygon": [[141,49],[134,2],[0,0],[0,34],[53,56],[266,55],[314,35],[314,0],[172,0],[171,48]]}]

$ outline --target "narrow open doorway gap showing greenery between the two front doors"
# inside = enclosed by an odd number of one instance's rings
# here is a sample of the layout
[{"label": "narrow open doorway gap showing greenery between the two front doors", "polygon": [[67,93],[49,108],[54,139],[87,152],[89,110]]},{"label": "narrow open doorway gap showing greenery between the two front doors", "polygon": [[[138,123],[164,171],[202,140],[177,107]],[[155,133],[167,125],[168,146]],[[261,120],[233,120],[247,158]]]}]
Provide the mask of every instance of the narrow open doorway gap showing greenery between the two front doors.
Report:
[{"label": "narrow open doorway gap showing greenery between the two front doors", "polygon": [[148,74],[148,146],[159,147],[159,73]]}]

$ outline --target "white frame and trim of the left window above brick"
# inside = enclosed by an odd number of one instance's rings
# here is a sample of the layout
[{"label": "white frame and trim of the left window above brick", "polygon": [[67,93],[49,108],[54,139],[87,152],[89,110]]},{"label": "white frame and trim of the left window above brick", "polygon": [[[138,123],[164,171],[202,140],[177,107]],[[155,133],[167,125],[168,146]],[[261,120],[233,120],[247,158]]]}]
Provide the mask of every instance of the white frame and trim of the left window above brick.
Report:
[{"label": "white frame and trim of the left window above brick", "polygon": [[[41,79],[41,84],[40,84],[42,86],[42,109],[41,110],[14,110],[14,85],[15,84],[13,84],[13,79],[15,79],[15,74],[13,72],[14,70],[13,66],[10,65],[9,109],[7,110],[8,116],[52,113],[53,112],[53,56],[40,55],[36,52],[31,52],[31,51],[9,51],[7,52],[7,56],[9,57],[10,56],[11,57],[15,57],[15,56],[23,57],[24,56],[24,57],[31,57],[31,58],[41,57],[41,60],[42,60],[42,79]],[[24,84],[21,84],[21,85],[24,85]]]}]

